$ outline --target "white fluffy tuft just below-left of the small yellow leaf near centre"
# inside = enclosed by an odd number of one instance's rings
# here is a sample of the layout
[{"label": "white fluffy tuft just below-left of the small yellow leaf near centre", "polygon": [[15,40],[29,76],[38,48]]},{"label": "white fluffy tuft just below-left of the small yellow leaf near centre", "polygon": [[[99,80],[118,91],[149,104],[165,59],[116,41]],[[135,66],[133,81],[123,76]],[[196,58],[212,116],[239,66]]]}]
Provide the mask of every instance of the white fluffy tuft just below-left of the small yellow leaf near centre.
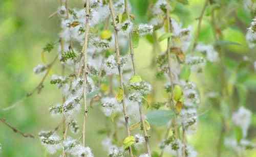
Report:
[{"label": "white fluffy tuft just below-left of the small yellow leaf near centre", "polygon": [[102,111],[107,117],[111,116],[111,114],[122,112],[122,105],[117,102],[115,97],[103,97],[101,105]]}]

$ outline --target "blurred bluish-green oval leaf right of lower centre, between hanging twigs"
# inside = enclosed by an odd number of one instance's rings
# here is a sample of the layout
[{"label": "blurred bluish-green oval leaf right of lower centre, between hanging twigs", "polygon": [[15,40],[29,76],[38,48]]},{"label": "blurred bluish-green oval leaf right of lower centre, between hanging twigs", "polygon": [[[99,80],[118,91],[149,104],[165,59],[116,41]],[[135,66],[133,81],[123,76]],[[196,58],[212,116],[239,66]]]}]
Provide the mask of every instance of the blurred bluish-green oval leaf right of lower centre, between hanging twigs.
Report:
[{"label": "blurred bluish-green oval leaf right of lower centre, between hanging twigs", "polygon": [[147,121],[151,125],[156,125],[156,126],[162,126],[167,124],[170,119],[172,119],[174,116],[173,111],[170,110],[155,110],[148,112],[146,117]]}]

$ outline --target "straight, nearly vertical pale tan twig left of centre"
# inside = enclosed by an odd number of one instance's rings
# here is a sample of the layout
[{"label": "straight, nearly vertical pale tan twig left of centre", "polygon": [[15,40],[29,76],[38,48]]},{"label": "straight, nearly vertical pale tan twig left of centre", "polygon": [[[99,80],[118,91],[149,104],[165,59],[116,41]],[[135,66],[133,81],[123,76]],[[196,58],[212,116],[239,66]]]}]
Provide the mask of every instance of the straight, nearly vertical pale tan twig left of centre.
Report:
[{"label": "straight, nearly vertical pale tan twig left of centre", "polygon": [[83,146],[86,145],[86,119],[87,119],[87,47],[88,47],[88,40],[89,40],[89,17],[90,17],[90,1],[86,1],[86,33],[84,35],[84,43],[82,47],[82,54],[83,54],[83,103],[84,103],[84,114],[83,114],[83,128],[82,128],[82,144]]}]

